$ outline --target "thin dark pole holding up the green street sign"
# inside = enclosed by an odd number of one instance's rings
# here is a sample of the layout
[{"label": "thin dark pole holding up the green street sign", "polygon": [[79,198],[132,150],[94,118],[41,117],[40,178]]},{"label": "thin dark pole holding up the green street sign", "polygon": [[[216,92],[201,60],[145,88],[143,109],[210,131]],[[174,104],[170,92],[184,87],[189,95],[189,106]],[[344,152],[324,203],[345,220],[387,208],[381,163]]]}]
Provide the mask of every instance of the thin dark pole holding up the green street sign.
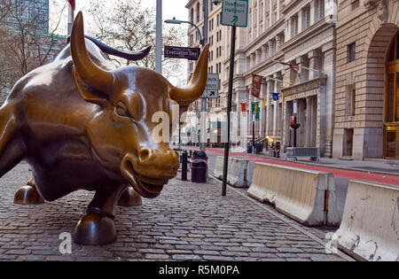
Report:
[{"label": "thin dark pole holding up the green street sign", "polygon": [[232,81],[234,74],[234,52],[236,49],[236,27],[231,27],[231,51],[230,51],[230,73],[229,73],[229,92],[227,98],[227,143],[224,143],[224,162],[223,162],[223,185],[222,196],[226,196],[227,168],[229,162],[230,149],[230,112],[232,98]]}]

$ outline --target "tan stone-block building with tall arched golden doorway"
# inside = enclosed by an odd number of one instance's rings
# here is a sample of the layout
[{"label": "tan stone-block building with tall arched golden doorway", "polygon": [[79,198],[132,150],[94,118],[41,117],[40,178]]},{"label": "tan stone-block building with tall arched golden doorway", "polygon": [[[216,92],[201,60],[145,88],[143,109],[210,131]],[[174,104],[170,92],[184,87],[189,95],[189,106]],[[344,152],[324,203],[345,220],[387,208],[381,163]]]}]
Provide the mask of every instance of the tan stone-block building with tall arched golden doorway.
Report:
[{"label": "tan stone-block building with tall arched golden doorway", "polygon": [[338,5],[334,158],[399,158],[399,1]]}]

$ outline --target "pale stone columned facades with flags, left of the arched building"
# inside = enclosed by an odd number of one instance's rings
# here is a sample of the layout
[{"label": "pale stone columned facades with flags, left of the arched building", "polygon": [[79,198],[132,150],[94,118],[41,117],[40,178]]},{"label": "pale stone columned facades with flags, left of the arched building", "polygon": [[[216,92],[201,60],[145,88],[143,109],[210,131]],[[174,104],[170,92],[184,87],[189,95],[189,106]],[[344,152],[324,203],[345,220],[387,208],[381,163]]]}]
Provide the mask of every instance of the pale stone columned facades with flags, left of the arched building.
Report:
[{"label": "pale stone columned facades with flags, left of the arched building", "polygon": [[[212,2],[212,1],[210,1]],[[293,146],[293,129],[290,119],[294,103],[298,107],[297,146],[317,147],[322,156],[332,156],[332,131],[335,96],[335,41],[334,21],[325,12],[329,0],[249,0],[248,27],[237,28],[234,54],[232,92],[231,139],[246,143],[255,139],[279,142],[285,149]],[[196,22],[196,11],[202,1],[190,1],[189,19]],[[220,20],[222,7],[209,11],[209,20]],[[200,23],[200,20],[198,21]],[[211,27],[209,22],[208,26]],[[189,29],[189,45],[195,42],[195,28]],[[220,74],[220,101],[209,104],[208,118],[225,120],[227,90],[230,71],[231,27],[216,25],[212,33],[217,42],[209,53],[209,72]],[[217,35],[220,32],[221,35]],[[218,39],[222,38],[221,41]],[[195,43],[194,43],[195,45]],[[212,51],[222,53],[215,59]],[[215,59],[215,60],[214,60]],[[298,72],[281,64],[287,62],[300,66]],[[193,66],[189,62],[189,76]],[[262,76],[260,97],[251,92],[253,74]],[[209,102],[208,102],[209,103]],[[256,105],[254,105],[256,103]],[[241,108],[245,108],[245,112]],[[254,120],[253,110],[259,109]],[[199,106],[192,106],[195,112]],[[198,114],[198,113],[197,113]],[[212,122],[212,121],[210,121]]]}]

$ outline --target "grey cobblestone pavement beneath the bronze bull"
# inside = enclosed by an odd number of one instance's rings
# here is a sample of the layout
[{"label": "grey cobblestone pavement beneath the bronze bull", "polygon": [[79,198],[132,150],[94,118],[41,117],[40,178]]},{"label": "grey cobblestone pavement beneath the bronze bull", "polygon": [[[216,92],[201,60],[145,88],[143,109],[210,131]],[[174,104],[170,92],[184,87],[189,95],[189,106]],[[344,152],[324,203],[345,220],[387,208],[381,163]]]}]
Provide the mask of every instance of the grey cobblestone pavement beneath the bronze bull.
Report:
[{"label": "grey cobblestone pavement beneath the bronze bull", "polygon": [[43,205],[14,205],[30,178],[21,163],[0,179],[0,260],[348,260],[228,189],[220,182],[169,182],[160,197],[118,207],[118,240],[104,246],[72,244],[59,252],[59,235],[73,233],[93,193],[77,191]]}]

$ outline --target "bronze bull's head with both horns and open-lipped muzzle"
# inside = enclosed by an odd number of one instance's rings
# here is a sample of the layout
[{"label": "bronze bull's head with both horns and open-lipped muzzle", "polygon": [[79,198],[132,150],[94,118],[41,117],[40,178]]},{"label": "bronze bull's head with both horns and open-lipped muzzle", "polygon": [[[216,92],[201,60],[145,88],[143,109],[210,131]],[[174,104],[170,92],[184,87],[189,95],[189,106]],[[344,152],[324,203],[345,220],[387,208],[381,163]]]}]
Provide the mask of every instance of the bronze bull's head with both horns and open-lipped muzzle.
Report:
[{"label": "bronze bull's head with both horns and open-lipped muzzle", "polygon": [[107,71],[94,64],[88,55],[82,12],[74,19],[71,34],[74,80],[82,97],[97,104],[92,106],[95,116],[87,131],[90,146],[110,177],[122,176],[145,198],[158,196],[179,167],[177,152],[168,143],[153,139],[153,128],[157,126],[152,121],[153,114],[167,112],[171,120],[172,105],[179,105],[181,113],[201,96],[207,82],[207,53],[208,45],[184,89],[139,66]]}]

